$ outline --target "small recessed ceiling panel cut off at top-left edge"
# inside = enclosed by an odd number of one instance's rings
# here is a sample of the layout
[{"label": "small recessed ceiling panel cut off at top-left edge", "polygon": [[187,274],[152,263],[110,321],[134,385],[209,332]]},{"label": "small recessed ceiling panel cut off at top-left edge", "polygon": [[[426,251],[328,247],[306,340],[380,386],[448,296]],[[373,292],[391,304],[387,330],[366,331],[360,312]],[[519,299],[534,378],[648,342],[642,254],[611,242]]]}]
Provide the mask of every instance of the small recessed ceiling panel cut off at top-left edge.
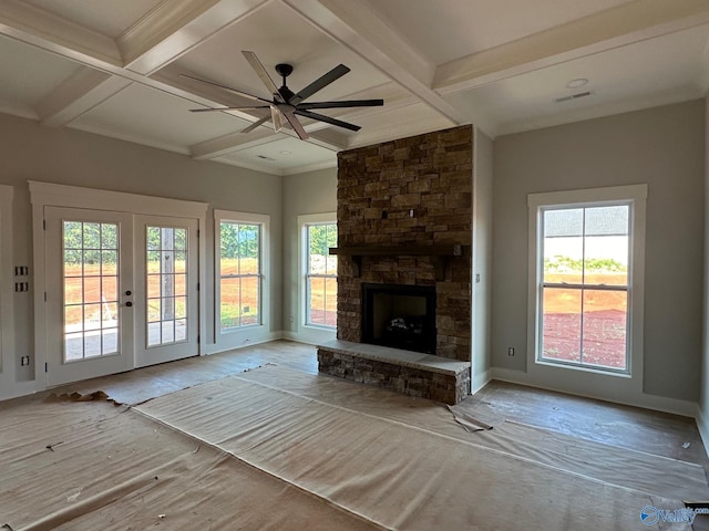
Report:
[{"label": "small recessed ceiling panel cut off at top-left edge", "polygon": [[111,39],[121,35],[162,0],[24,0]]}]

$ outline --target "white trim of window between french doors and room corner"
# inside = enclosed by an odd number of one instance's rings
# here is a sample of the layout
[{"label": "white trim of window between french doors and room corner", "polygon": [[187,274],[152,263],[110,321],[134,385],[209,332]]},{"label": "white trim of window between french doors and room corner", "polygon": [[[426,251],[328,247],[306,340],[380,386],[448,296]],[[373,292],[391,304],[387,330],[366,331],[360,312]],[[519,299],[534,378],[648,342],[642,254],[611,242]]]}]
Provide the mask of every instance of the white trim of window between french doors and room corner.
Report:
[{"label": "white trim of window between french doors and room corner", "polygon": [[[248,324],[244,326],[235,326],[222,330],[222,274],[219,271],[220,250],[222,250],[222,231],[223,222],[232,222],[239,225],[258,225],[260,226],[260,244],[259,244],[259,323]],[[260,331],[268,332],[270,330],[270,216],[263,214],[235,212],[229,210],[214,210],[214,335],[218,350],[242,346],[244,341],[251,339],[243,339],[244,334],[257,334]],[[258,341],[261,339],[259,337]],[[265,340],[265,337],[264,337]]]}]

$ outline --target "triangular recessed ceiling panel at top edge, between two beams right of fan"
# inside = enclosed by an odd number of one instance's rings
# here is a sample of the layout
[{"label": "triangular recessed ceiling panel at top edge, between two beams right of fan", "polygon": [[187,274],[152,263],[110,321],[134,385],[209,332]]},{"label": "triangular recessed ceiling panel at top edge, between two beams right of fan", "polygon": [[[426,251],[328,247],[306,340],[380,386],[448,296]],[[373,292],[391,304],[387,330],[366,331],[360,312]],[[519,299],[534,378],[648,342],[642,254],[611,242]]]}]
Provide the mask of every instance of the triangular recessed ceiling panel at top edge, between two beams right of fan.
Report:
[{"label": "triangular recessed ceiling panel at top edge, between two beams right of fan", "polygon": [[368,0],[420,53],[442,64],[629,0]]}]

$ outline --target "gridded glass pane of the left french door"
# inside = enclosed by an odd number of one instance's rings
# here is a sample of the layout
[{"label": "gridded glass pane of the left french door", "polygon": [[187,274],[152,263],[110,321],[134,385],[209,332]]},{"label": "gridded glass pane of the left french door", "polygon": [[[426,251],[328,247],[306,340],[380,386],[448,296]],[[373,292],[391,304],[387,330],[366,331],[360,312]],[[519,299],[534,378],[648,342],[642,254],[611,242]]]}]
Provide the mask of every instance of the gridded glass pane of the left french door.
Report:
[{"label": "gridded glass pane of the left french door", "polygon": [[119,352],[119,226],[62,222],[63,360]]}]

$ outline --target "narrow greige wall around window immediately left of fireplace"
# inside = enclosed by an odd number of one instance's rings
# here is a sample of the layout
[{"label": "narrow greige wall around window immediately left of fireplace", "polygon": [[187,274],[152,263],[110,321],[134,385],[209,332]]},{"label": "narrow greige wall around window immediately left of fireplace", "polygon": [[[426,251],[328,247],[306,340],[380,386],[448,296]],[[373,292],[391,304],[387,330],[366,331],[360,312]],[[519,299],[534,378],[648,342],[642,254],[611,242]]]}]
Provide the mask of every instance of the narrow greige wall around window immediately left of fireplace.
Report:
[{"label": "narrow greige wall around window immediately left of fireplace", "polygon": [[[304,343],[322,343],[335,339],[335,332],[323,332],[302,325],[299,275],[298,216],[337,211],[337,168],[284,177],[284,333],[285,337]],[[292,322],[291,322],[292,317]]]}]

